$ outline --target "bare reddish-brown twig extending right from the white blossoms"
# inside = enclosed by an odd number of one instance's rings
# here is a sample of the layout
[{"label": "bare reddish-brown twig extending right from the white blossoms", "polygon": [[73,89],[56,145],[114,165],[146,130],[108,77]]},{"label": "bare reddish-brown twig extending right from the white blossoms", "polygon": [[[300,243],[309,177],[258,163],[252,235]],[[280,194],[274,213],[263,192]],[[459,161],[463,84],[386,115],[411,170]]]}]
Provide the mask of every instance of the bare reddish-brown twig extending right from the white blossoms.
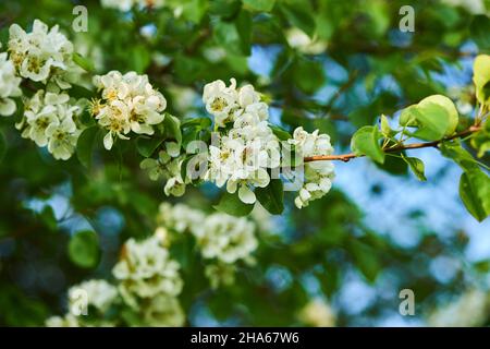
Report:
[{"label": "bare reddish-brown twig extending right from the white blossoms", "polygon": [[[384,153],[399,153],[399,152],[403,152],[403,151],[407,151],[407,149],[433,147],[433,146],[438,146],[441,142],[465,137],[465,136],[467,136],[474,132],[478,132],[480,130],[481,130],[481,127],[473,125],[465,131],[453,134],[452,136],[449,136],[449,137],[445,137],[442,140],[432,141],[432,142],[424,142],[424,143],[402,144],[402,145],[396,145],[396,146],[393,146],[391,148],[387,148],[383,151],[384,151]],[[340,161],[347,163],[348,160],[351,160],[353,158],[363,157],[363,156],[364,155],[356,155],[354,153],[340,154],[340,155],[316,155],[316,156],[306,156],[304,158],[304,161],[310,163],[310,161],[321,161],[321,160],[330,160],[330,161],[331,160],[340,160]]]}]

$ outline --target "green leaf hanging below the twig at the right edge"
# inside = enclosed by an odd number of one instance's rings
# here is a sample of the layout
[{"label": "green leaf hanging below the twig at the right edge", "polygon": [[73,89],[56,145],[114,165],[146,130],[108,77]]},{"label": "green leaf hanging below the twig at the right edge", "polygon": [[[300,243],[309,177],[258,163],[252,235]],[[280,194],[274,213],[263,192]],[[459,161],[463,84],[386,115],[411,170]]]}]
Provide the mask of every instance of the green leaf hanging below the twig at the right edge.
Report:
[{"label": "green leaf hanging below the twig at the right edge", "polygon": [[461,176],[460,196],[466,209],[478,221],[490,215],[490,178],[481,170],[464,172]]}]

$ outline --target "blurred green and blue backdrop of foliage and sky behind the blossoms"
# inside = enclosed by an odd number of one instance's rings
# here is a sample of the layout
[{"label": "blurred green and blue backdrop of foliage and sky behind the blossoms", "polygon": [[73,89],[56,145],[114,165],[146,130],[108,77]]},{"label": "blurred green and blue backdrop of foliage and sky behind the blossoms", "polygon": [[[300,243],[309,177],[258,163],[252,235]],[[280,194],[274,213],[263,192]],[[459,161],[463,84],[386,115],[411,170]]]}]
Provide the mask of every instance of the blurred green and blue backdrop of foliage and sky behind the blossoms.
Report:
[{"label": "blurred green and blue backdrop of foliage and sky behind the blossoms", "polygon": [[[271,2],[267,11],[245,0],[167,0],[158,10],[119,11],[95,0],[2,0],[0,40],[4,49],[12,23],[59,24],[97,72],[148,74],[180,118],[205,116],[203,86],[235,77],[267,94],[273,123],[320,129],[336,153],[348,152],[359,127],[381,113],[396,124],[397,110],[431,94],[450,96],[463,118],[473,117],[471,67],[490,51],[489,1]],[[88,10],[86,33],[72,29],[77,4]],[[413,33],[399,28],[406,4],[415,11]],[[13,123],[0,119],[0,325],[44,325],[66,311],[70,286],[110,279],[121,244],[155,231],[161,202],[212,210],[219,197],[208,184],[166,197],[131,151],[118,158],[99,149],[90,171],[76,157],[56,161]],[[286,193],[281,216],[254,212],[257,263],[230,287],[184,287],[186,324],[315,325],[298,314],[321,300],[334,314],[330,325],[488,325],[490,221],[465,210],[456,165],[432,148],[416,156],[427,182],[394,158],[382,167],[359,158],[335,164],[333,190],[309,207],[296,209]],[[100,261],[83,268],[66,246],[87,229],[99,237]],[[184,278],[197,268],[187,264]],[[415,293],[413,316],[399,312],[402,289]]]}]

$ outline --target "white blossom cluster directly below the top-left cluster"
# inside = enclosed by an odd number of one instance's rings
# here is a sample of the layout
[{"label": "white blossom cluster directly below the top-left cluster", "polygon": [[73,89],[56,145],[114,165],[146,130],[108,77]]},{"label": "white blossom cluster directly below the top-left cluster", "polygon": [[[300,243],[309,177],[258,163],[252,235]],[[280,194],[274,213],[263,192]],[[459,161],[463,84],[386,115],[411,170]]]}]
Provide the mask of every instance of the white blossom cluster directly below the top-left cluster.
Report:
[{"label": "white blossom cluster directly below the top-left cluster", "polygon": [[83,127],[77,122],[83,100],[74,101],[68,94],[39,89],[24,103],[24,116],[15,124],[24,139],[38,146],[48,146],[56,159],[66,160],[75,152]]}]

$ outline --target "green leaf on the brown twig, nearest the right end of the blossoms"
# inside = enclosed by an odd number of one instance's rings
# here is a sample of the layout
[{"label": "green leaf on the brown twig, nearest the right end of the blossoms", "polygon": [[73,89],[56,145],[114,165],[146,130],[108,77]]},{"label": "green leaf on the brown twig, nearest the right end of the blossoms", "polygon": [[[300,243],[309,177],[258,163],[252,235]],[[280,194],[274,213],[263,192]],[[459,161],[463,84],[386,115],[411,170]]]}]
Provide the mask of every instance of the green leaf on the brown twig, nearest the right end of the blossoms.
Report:
[{"label": "green leaf on the brown twig, nearest the right end of the blossoms", "polygon": [[351,149],[356,155],[369,156],[377,163],[384,163],[384,152],[379,145],[381,134],[376,127],[364,127],[354,133],[351,141]]}]

